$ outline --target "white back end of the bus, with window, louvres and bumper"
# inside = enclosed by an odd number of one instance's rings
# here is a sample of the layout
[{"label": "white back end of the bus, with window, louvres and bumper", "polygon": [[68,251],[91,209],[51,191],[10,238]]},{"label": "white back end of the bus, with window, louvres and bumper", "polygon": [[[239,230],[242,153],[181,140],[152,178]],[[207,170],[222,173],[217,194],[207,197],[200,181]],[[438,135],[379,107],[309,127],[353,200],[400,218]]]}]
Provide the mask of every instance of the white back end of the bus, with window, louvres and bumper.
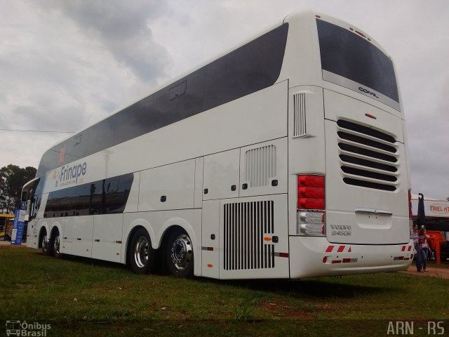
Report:
[{"label": "white back end of the bus, with window, louvres and bumper", "polygon": [[314,25],[319,86],[290,87],[290,277],[404,270],[414,251],[393,62],[356,27]]}]

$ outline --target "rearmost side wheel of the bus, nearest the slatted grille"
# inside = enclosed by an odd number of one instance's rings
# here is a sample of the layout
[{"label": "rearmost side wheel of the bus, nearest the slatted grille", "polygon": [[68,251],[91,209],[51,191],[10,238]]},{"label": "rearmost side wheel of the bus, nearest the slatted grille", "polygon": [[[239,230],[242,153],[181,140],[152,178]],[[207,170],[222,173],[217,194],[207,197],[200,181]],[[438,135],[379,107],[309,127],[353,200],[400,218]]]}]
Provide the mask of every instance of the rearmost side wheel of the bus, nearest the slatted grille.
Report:
[{"label": "rearmost side wheel of the bus, nearest the slatted grille", "polygon": [[187,232],[178,229],[170,234],[166,254],[170,275],[177,277],[194,275],[194,249]]}]

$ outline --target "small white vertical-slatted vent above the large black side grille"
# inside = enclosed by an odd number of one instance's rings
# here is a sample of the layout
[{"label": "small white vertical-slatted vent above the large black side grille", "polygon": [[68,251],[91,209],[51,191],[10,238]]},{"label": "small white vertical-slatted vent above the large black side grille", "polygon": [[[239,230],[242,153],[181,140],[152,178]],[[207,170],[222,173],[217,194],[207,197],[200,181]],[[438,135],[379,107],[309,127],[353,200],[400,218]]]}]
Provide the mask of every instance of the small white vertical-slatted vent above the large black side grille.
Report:
[{"label": "small white vertical-slatted vent above the large black side grille", "polygon": [[245,180],[250,187],[267,186],[276,176],[276,146],[269,145],[245,152]]}]

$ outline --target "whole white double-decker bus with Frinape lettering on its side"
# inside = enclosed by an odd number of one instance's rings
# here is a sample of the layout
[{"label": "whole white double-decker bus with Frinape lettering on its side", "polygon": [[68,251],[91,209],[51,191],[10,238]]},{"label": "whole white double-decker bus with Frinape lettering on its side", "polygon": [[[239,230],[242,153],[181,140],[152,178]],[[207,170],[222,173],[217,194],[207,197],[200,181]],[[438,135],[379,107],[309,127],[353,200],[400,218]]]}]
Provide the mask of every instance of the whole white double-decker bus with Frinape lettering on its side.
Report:
[{"label": "whole white double-decker bus with Frinape lettering on its side", "polygon": [[409,177],[389,55],[296,13],[51,147],[27,242],[181,277],[403,270]]}]

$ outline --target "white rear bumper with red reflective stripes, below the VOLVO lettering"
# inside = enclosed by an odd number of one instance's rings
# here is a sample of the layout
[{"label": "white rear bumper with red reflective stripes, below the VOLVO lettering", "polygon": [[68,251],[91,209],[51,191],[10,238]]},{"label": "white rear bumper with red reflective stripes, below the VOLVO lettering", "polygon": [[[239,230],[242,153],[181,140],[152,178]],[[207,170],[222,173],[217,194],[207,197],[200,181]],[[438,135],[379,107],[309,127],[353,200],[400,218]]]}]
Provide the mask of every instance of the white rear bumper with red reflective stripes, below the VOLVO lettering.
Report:
[{"label": "white rear bumper with red reflective stripes, below the VOLVO lettering", "polygon": [[293,237],[290,278],[354,275],[406,270],[413,260],[413,240],[407,244],[330,244],[326,237]]}]

